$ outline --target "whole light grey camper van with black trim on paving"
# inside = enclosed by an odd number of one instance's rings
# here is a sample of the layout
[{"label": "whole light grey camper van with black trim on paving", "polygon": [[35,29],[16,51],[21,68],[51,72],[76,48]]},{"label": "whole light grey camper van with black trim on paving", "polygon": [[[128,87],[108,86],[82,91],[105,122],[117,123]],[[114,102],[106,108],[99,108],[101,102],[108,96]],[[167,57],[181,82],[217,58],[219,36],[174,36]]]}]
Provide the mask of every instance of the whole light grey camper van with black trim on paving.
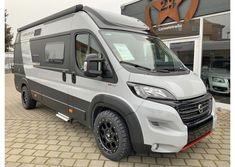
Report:
[{"label": "whole light grey camper van with black trim on paving", "polygon": [[104,156],[179,152],[208,136],[215,102],[141,21],[77,5],[18,29],[16,89],[94,132]]}]

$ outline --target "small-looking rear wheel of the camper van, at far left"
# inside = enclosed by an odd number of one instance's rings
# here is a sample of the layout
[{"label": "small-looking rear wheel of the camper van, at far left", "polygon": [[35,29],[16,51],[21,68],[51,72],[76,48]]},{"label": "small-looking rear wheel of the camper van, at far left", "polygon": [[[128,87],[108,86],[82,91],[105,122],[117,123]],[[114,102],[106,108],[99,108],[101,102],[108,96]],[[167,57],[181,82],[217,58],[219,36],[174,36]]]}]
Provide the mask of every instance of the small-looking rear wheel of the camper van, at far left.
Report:
[{"label": "small-looking rear wheel of the camper van, at far left", "polygon": [[31,92],[26,86],[23,86],[21,89],[21,100],[23,107],[25,109],[34,109],[36,107],[37,101],[32,99]]}]

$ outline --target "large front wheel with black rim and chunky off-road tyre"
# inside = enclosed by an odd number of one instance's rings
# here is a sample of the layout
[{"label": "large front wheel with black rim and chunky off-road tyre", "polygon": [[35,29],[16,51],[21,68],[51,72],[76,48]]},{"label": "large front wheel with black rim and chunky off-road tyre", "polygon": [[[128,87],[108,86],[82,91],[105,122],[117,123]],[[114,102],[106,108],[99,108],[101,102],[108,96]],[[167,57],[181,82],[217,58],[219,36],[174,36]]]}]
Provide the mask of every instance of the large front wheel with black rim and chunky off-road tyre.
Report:
[{"label": "large front wheel with black rim and chunky off-road tyre", "polygon": [[94,123],[96,143],[102,154],[114,161],[129,155],[131,144],[127,126],[116,113],[106,110],[98,114]]}]

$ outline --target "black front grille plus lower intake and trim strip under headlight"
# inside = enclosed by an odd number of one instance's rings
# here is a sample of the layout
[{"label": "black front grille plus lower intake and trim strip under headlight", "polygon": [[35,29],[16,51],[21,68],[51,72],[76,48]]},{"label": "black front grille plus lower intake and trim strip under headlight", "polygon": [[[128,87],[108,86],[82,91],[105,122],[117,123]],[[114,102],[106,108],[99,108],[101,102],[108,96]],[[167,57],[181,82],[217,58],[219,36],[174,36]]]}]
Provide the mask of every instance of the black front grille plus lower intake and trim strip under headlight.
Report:
[{"label": "black front grille plus lower intake and trim strip under headlight", "polygon": [[209,93],[189,100],[150,100],[170,105],[178,111],[182,121],[188,128],[188,143],[199,139],[212,130],[212,96]]}]

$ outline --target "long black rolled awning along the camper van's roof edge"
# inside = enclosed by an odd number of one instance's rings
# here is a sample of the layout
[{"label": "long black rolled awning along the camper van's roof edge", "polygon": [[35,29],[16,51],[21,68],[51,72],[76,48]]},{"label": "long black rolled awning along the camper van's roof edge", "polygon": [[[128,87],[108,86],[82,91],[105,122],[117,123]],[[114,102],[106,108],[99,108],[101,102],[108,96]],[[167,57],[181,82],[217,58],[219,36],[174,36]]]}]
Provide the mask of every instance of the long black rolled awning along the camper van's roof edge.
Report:
[{"label": "long black rolled awning along the camper van's roof edge", "polygon": [[35,22],[33,22],[31,24],[28,24],[26,26],[23,26],[21,28],[18,28],[17,31],[20,32],[20,31],[26,30],[28,28],[31,28],[31,27],[37,26],[39,24],[42,24],[44,22],[48,22],[48,21],[60,18],[60,17],[63,17],[65,15],[68,15],[68,14],[71,14],[71,13],[76,13],[76,12],[81,11],[81,10],[83,10],[83,5],[79,4],[79,5],[70,7],[68,9],[62,10],[62,11],[60,11],[58,13],[55,13],[55,14],[53,14],[51,16],[48,16],[48,17],[45,17],[45,18],[40,19],[38,21],[35,21]]}]

